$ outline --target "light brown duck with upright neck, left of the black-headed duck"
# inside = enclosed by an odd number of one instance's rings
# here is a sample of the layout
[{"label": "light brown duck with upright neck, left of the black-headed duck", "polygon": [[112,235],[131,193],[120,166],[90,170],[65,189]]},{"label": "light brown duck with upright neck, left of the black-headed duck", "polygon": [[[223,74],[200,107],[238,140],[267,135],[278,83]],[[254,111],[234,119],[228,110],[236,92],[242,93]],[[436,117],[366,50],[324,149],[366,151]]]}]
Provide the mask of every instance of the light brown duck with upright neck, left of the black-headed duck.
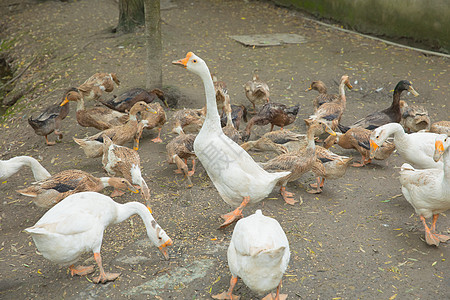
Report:
[{"label": "light brown duck with upright neck, left of the black-headed duck", "polygon": [[341,77],[341,83],[339,84],[339,99],[322,104],[309,118],[322,121],[331,127],[331,129],[336,130],[347,103],[345,86],[349,89],[353,88],[347,75]]}]

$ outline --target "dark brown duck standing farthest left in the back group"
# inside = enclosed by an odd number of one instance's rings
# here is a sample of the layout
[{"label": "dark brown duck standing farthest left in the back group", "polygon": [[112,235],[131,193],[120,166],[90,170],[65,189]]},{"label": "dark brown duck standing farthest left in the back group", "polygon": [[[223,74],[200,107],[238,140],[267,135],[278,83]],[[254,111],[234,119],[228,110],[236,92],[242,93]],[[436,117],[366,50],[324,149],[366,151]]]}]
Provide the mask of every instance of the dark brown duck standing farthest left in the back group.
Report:
[{"label": "dark brown duck standing farthest left in the back group", "polygon": [[[67,92],[64,94],[64,98]],[[37,135],[45,137],[47,145],[54,145],[55,142],[48,141],[48,135],[55,132],[57,135],[56,141],[59,142],[63,138],[63,134],[60,131],[61,121],[64,120],[69,114],[69,104],[64,103],[64,99],[59,104],[53,104],[47,107],[37,118],[28,118],[28,124],[34,129]]]}]

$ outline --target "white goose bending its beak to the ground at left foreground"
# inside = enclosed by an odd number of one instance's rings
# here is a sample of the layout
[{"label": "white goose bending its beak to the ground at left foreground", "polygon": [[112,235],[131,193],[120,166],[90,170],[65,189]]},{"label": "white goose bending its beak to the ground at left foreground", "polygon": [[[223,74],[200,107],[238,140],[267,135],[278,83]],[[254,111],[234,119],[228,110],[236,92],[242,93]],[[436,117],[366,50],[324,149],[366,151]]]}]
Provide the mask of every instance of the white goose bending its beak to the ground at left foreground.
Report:
[{"label": "white goose bending its beak to the ground at left foreground", "polygon": [[120,273],[106,273],[103,269],[100,256],[103,232],[109,225],[120,223],[135,214],[144,222],[150,241],[158,247],[165,259],[169,259],[166,247],[172,245],[172,240],[156,223],[145,205],[138,202],[119,204],[96,192],[83,192],[67,197],[25,231],[31,234],[37,249],[46,259],[69,266],[72,276],[94,272],[94,266],[74,265],[83,253],[92,251],[100,270],[100,275],[94,278],[94,282],[105,283],[115,280]]}]

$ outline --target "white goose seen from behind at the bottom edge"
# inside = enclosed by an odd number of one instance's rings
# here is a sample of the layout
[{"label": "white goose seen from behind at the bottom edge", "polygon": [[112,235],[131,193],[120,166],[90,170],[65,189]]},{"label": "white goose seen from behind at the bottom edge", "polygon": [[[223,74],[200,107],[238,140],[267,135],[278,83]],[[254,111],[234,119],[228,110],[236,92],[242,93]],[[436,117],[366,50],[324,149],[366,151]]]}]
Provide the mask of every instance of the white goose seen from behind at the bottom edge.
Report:
[{"label": "white goose seen from behind at the bottom edge", "polygon": [[240,277],[254,292],[270,292],[265,299],[274,299],[271,291],[277,288],[275,299],[280,295],[281,278],[289,264],[289,242],[277,220],[266,217],[261,210],[239,220],[234,228],[228,247],[228,266],[231,271],[230,288],[213,296],[215,299],[239,299],[233,289]]}]

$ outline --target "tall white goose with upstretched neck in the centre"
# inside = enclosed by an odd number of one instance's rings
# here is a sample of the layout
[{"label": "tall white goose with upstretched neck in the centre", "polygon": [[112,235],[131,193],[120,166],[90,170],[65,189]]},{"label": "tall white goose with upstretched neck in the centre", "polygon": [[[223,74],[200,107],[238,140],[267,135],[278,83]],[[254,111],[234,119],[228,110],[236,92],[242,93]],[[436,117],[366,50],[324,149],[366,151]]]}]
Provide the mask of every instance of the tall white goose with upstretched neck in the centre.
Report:
[{"label": "tall white goose with upstretched neck in the centre", "polygon": [[234,211],[222,216],[225,222],[221,227],[225,227],[242,217],[242,210],[248,203],[267,197],[280,178],[290,172],[268,173],[223,133],[214,84],[203,59],[189,52],[184,59],[172,63],[200,76],[205,87],[206,118],[194,141],[194,152],[222,199],[233,206],[240,204]]}]

